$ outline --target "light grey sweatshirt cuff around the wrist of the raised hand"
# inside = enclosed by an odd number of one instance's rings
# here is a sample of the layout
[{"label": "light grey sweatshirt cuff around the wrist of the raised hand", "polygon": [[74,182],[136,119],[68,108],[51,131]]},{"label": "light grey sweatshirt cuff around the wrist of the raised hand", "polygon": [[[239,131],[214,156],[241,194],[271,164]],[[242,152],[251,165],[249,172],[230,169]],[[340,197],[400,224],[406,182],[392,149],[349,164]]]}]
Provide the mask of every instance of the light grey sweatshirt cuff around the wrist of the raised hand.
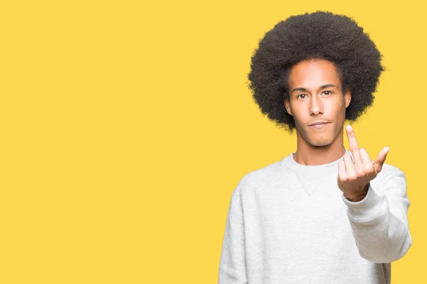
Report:
[{"label": "light grey sweatshirt cuff around the wrist of the raised hand", "polygon": [[360,200],[358,202],[352,202],[350,200],[347,200],[347,197],[345,197],[344,192],[342,193],[342,200],[344,201],[344,204],[347,205],[347,214],[353,219],[359,220],[369,219],[374,216],[376,212],[379,212],[379,208],[383,198],[384,195],[380,195],[379,193],[375,192],[375,190],[371,187],[370,183],[368,187],[367,196],[365,196],[363,200]]}]

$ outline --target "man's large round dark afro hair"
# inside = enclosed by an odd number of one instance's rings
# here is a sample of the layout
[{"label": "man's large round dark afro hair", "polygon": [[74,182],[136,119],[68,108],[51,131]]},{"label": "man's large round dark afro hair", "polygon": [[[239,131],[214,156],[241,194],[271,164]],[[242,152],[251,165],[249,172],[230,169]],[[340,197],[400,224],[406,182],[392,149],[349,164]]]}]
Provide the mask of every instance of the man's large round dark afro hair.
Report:
[{"label": "man's large round dark afro hair", "polygon": [[263,114],[292,133],[295,121],[285,109],[290,70],[297,62],[324,59],[337,67],[342,92],[352,92],[345,119],[357,121],[374,101],[385,70],[376,45],[353,18],[328,11],[290,16],[265,33],[251,58],[248,87]]}]

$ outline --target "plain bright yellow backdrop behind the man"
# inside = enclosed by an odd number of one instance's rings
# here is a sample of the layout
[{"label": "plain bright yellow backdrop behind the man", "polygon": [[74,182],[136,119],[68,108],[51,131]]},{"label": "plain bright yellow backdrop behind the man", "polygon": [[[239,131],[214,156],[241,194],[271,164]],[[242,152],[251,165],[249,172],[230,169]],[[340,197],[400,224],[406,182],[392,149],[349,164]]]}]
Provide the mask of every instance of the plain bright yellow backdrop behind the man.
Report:
[{"label": "plain bright yellow backdrop behind the man", "polygon": [[384,54],[354,129],[406,173],[413,246],[392,283],[424,283],[421,1],[0,3],[0,283],[217,283],[238,180],[296,148],[251,98],[251,55],[317,10],[352,16]]}]

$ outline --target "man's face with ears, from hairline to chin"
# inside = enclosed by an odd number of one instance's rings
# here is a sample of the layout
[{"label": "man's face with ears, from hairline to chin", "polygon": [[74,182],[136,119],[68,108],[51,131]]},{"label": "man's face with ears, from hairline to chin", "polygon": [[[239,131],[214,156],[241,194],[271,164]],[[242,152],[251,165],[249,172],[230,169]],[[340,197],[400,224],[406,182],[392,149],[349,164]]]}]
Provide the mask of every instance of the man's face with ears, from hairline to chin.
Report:
[{"label": "man's face with ears, from hairline to chin", "polygon": [[[345,120],[351,94],[342,93],[336,67],[327,60],[306,60],[294,65],[289,77],[289,100],[285,108],[295,121],[298,139],[311,146],[328,146]],[[310,126],[315,122],[326,122]]]}]

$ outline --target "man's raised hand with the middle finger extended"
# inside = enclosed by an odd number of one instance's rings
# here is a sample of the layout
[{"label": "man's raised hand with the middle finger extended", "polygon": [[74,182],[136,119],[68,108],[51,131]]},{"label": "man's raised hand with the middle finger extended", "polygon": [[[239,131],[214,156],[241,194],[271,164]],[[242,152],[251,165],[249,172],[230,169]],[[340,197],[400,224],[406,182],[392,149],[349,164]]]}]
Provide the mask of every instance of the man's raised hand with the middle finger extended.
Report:
[{"label": "man's raised hand with the middle finger extended", "polygon": [[338,163],[338,187],[345,197],[352,202],[363,200],[367,195],[369,182],[381,172],[389,147],[384,147],[375,160],[371,160],[369,153],[359,145],[352,126],[346,126],[350,151]]}]

